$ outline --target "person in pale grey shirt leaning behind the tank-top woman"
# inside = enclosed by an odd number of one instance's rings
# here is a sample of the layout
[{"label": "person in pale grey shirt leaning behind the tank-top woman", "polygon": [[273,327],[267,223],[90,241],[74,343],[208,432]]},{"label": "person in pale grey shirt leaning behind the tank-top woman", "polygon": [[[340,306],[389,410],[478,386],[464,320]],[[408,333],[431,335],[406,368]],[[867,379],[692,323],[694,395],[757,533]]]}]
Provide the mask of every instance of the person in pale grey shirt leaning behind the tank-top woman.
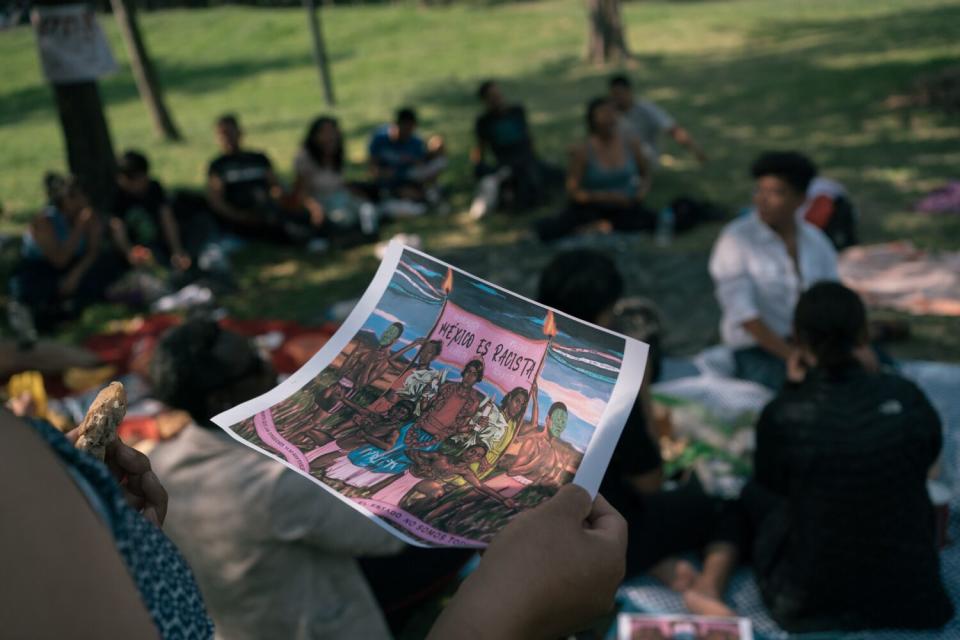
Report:
[{"label": "person in pale grey shirt leaning behind the tank-top woman", "polygon": [[627,76],[618,74],[610,78],[610,100],[620,113],[620,131],[628,138],[640,141],[651,166],[659,164],[658,142],[664,132],[692,153],[697,162],[703,164],[707,161],[707,154],[690,132],[678,125],[670,114],[649,100],[634,97]]}]

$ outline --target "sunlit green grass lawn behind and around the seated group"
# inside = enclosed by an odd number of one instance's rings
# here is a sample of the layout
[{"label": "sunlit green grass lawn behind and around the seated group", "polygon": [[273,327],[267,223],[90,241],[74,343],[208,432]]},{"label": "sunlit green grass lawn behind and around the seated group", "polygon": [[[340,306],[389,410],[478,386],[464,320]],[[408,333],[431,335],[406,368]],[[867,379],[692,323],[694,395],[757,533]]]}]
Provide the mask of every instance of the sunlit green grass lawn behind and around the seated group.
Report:
[{"label": "sunlit green grass lawn behind and around the seated group", "polygon": [[[910,238],[957,249],[960,217],[922,217],[910,205],[957,177],[960,122],[917,112],[907,125],[883,106],[919,75],[960,59],[960,4],[950,0],[646,1],[626,5],[631,72],[642,92],[701,141],[711,161],[699,168],[682,150],[658,174],[653,205],[681,193],[731,210],[748,201],[750,160],[768,148],[810,153],[845,182],[863,211],[865,241]],[[463,209],[466,159],[477,83],[502,80],[528,107],[542,153],[562,161],[581,135],[583,104],[605,88],[609,70],[582,64],[582,3],[559,0],[421,9],[413,5],[323,10],[341,119],[353,171],[365,139],[402,104],[414,104],[425,131],[442,132],[454,159],[450,185]],[[289,177],[294,151],[322,94],[301,10],[222,7],[142,14],[167,99],[186,136],[157,140],[126,65],[110,16],[102,17],[121,65],[101,90],[118,149],[151,156],[170,187],[195,187],[215,153],[212,122],[240,114],[252,147]],[[16,232],[42,202],[40,177],[63,169],[63,146],[33,34],[0,33],[0,230]],[[477,244],[507,247],[517,229],[505,218],[468,223],[456,214],[413,221],[428,250]],[[677,252],[702,256],[714,226],[680,239]],[[650,244],[638,244],[639,248]],[[238,264],[242,294],[226,300],[240,315],[309,321],[326,304],[356,295],[376,266],[369,248],[330,256],[251,247]],[[96,309],[83,333],[117,313]],[[904,353],[960,359],[960,323],[922,319]]]}]

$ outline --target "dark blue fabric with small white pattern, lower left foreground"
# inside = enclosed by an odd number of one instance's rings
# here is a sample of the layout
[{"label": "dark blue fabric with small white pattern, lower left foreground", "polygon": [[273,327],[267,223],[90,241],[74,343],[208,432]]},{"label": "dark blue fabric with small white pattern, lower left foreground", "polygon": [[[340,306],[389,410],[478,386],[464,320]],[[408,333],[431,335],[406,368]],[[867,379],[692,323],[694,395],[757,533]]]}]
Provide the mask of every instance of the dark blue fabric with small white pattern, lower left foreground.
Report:
[{"label": "dark blue fabric with small white pattern, lower left foreground", "polygon": [[163,532],[137,513],[124,499],[107,467],[77,450],[59,431],[42,421],[32,421],[70,470],[80,489],[104,517],[113,533],[117,551],[127,565],[143,603],[164,640],[213,637],[213,622],[207,616],[200,590],[180,552]]}]

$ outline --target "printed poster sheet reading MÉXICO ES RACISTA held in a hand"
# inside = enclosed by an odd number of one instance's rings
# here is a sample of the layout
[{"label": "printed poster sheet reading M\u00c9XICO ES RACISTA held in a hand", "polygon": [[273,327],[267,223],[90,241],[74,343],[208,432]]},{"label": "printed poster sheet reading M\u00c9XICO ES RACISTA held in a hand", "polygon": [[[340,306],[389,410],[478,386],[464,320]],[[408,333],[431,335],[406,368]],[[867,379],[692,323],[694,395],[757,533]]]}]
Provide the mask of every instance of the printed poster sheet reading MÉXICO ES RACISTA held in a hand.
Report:
[{"label": "printed poster sheet reading M\u00c9XICO ES RACISTA held in a hand", "polygon": [[568,482],[595,494],[647,345],[394,243],[340,330],[213,421],[418,546],[485,546]]}]

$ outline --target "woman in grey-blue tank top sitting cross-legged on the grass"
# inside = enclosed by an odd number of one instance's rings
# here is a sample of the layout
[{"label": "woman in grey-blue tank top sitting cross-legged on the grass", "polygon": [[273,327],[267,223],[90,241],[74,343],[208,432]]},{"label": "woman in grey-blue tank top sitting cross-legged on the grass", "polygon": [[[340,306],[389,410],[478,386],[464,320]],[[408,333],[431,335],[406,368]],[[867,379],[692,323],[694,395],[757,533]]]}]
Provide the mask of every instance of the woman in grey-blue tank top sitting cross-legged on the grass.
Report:
[{"label": "woman in grey-blue tank top sitting cross-legged on the grass", "polygon": [[536,225],[542,241],[586,229],[653,229],[656,216],[643,205],[650,190],[650,170],[640,143],[617,129],[617,114],[608,98],[587,105],[587,139],[573,147],[567,169],[567,208]]}]

